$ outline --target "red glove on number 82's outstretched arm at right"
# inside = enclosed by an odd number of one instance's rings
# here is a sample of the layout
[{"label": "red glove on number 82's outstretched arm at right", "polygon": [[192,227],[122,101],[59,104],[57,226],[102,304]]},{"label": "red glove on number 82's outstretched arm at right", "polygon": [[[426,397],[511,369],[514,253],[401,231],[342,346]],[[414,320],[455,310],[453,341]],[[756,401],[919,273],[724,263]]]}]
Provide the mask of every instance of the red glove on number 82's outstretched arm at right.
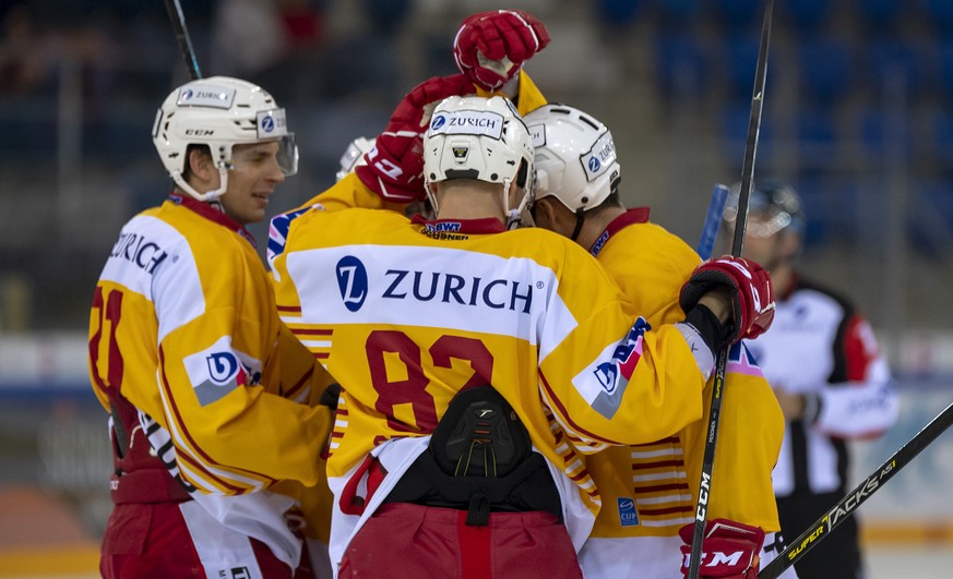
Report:
[{"label": "red glove on number 82's outstretched arm at right", "polygon": [[757,263],[743,257],[723,255],[698,266],[681,287],[679,304],[688,313],[699,299],[716,286],[731,288],[734,323],[728,342],[753,339],[771,327],[774,319],[774,289],[771,276]]}]

